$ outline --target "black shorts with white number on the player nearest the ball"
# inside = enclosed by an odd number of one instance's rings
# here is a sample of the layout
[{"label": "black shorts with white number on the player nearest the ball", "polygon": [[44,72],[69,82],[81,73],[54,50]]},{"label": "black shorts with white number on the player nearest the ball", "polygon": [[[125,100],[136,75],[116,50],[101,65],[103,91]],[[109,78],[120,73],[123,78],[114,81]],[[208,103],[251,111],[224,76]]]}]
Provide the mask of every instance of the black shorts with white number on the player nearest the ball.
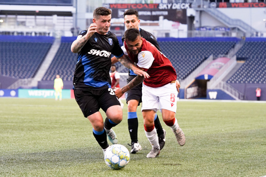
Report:
[{"label": "black shorts with white number on the player nearest the ball", "polygon": [[120,105],[113,89],[105,88],[102,90],[79,90],[74,89],[74,96],[80,106],[84,117],[88,117],[99,111],[103,111],[114,105]]}]

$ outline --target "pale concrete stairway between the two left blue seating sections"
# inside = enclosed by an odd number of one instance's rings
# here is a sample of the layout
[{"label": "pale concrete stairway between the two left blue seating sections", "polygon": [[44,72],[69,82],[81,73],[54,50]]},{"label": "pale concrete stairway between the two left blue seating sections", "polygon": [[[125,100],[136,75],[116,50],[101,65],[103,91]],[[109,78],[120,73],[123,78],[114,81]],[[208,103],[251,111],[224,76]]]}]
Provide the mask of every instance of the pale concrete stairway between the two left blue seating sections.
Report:
[{"label": "pale concrete stairway between the two left blue seating sections", "polygon": [[55,41],[53,42],[53,45],[51,46],[51,49],[49,50],[48,54],[46,55],[43,63],[41,64],[38,72],[36,73],[34,79],[32,80],[31,84],[29,85],[29,87],[37,87],[38,85],[38,81],[40,81],[44,74],[46,73],[46,71],[48,70],[50,64],[52,63],[58,49],[59,46],[61,44],[61,38],[56,38]]}]

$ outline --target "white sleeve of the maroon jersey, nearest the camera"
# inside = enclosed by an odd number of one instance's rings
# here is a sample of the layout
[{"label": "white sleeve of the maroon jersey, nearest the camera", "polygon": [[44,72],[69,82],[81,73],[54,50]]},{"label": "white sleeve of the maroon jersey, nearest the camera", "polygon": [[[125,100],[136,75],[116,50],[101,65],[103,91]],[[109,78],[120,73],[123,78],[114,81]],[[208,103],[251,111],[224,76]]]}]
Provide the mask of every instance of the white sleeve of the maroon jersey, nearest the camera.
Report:
[{"label": "white sleeve of the maroon jersey, nearest the camera", "polygon": [[153,61],[154,57],[150,51],[141,51],[138,54],[137,66],[147,71],[151,67]]}]

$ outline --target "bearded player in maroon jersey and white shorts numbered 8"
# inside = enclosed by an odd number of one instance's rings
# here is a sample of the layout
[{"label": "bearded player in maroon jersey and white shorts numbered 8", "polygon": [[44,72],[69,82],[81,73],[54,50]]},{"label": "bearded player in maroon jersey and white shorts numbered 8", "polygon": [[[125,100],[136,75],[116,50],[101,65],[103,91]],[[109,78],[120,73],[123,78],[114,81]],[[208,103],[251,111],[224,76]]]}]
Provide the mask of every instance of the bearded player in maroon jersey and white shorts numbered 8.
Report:
[{"label": "bearded player in maroon jersey and white shorts numbered 8", "polygon": [[178,144],[183,146],[186,141],[185,135],[175,118],[178,86],[176,70],[172,63],[153,44],[142,38],[139,30],[135,28],[126,30],[123,50],[138,68],[142,68],[150,75],[147,79],[136,76],[130,83],[115,91],[116,96],[120,98],[125,92],[143,82],[141,110],[145,134],[152,145],[147,157],[155,158],[160,153],[154,124],[154,116],[158,110],[161,110],[163,121],[172,129]]}]

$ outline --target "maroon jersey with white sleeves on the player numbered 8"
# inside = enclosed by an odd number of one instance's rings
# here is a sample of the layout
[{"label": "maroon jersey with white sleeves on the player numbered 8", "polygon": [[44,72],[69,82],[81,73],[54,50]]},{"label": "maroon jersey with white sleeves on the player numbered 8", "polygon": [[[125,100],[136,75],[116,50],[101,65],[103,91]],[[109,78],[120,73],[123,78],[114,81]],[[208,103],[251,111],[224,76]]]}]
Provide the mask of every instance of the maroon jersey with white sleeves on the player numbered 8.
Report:
[{"label": "maroon jersey with white sleeves on the player numbered 8", "polygon": [[162,87],[176,80],[176,70],[169,59],[144,38],[142,38],[142,46],[138,55],[128,51],[126,41],[124,41],[124,49],[126,49],[130,60],[136,63],[138,68],[143,69],[149,74],[150,77],[143,81],[144,85]]}]

